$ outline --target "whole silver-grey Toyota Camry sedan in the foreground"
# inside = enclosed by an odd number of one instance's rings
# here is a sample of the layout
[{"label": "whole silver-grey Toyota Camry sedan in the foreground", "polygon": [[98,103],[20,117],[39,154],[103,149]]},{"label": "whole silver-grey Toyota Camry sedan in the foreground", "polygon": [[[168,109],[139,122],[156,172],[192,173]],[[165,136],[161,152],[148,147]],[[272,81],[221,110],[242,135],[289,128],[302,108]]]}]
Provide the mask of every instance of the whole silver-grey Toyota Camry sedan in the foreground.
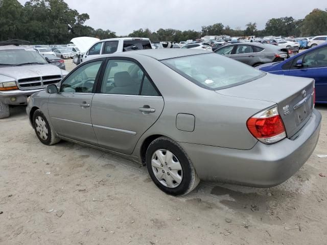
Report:
[{"label": "whole silver-grey Toyota Camry sedan in the foreground", "polygon": [[39,140],[69,140],[146,164],[163,191],[199,180],[269,187],[307,161],[321,114],[314,80],[266,74],[197,50],[107,55],[30,97]]}]

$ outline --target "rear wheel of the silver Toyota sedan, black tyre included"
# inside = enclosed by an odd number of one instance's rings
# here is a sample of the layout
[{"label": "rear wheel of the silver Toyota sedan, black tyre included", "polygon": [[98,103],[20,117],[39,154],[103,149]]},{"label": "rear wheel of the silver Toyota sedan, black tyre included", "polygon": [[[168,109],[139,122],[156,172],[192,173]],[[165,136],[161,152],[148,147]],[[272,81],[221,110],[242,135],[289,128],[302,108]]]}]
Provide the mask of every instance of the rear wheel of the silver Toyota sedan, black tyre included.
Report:
[{"label": "rear wheel of the silver Toyota sedan, black tyre included", "polygon": [[200,182],[191,159],[180,145],[167,137],[150,143],[146,164],[152,181],[168,194],[187,194]]}]

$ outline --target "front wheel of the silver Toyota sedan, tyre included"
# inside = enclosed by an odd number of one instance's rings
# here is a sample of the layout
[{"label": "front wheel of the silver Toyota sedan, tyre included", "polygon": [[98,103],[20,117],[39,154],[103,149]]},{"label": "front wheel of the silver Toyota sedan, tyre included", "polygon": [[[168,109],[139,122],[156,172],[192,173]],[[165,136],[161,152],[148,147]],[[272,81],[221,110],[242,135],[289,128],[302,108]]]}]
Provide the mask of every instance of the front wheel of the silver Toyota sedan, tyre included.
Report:
[{"label": "front wheel of the silver Toyota sedan, tyre included", "polygon": [[33,114],[33,127],[36,136],[43,144],[52,145],[60,141],[41,110],[36,110]]}]

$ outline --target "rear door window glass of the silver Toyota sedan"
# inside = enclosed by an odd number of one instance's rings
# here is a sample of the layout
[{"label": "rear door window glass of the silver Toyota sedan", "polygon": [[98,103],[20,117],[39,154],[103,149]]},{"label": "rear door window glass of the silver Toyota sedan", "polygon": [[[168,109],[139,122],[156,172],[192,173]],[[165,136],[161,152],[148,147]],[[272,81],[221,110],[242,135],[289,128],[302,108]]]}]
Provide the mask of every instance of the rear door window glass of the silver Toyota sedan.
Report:
[{"label": "rear door window glass of the silver Toyota sedan", "polygon": [[110,60],[108,62],[101,84],[101,93],[158,95],[141,67],[129,60]]}]

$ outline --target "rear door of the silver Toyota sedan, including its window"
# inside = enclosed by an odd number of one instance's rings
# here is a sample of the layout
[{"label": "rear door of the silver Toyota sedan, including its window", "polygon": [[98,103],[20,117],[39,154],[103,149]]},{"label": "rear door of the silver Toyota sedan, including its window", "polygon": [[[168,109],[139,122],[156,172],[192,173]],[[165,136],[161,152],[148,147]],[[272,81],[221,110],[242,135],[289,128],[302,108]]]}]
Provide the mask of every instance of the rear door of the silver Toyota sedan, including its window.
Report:
[{"label": "rear door of the silver Toyota sedan, including its window", "polygon": [[162,109],[164,99],[138,62],[109,59],[91,107],[99,146],[131,154]]}]

